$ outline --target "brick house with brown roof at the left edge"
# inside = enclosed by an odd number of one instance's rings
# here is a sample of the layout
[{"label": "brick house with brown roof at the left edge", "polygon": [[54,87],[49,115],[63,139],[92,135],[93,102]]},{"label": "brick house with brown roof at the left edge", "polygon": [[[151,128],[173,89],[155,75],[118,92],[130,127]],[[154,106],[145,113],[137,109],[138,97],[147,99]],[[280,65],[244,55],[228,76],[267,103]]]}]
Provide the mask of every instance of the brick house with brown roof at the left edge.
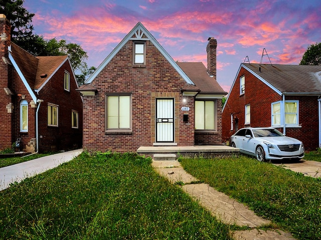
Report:
[{"label": "brick house with brown roof at the left edge", "polygon": [[0,14],[0,149],[22,139],[26,152],[82,147],[82,98],[68,56],[33,56],[11,42]]}]

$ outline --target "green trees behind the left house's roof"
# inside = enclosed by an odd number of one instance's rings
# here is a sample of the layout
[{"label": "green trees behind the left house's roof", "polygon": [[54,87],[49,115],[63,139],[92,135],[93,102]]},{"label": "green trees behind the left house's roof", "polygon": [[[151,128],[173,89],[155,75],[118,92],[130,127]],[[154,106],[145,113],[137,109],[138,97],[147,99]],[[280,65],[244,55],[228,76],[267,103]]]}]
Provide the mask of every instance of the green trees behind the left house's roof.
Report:
[{"label": "green trees behind the left house's roof", "polygon": [[67,43],[56,38],[46,40],[33,33],[32,18],[35,15],[23,7],[24,0],[0,0],[2,13],[11,21],[11,40],[35,56],[68,55],[75,71],[77,82],[82,85],[96,68],[88,67],[87,52],[76,43]]}]

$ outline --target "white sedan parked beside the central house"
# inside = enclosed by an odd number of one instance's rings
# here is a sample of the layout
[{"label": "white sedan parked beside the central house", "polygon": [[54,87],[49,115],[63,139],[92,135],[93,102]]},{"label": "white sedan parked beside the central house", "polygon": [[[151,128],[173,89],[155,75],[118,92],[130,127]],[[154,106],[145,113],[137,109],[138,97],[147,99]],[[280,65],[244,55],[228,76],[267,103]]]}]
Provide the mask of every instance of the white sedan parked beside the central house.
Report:
[{"label": "white sedan parked beside the central house", "polygon": [[283,135],[273,127],[245,127],[230,137],[230,146],[256,156],[259,161],[271,159],[301,159],[303,143]]}]

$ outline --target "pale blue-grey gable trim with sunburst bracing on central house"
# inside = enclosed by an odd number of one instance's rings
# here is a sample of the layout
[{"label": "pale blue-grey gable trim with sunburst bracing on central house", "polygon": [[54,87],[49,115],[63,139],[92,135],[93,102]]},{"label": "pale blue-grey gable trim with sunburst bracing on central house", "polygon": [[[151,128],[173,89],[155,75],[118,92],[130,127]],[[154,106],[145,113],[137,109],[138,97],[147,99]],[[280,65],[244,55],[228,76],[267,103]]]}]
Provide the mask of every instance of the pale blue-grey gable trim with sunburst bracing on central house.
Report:
[{"label": "pale blue-grey gable trim with sunburst bracing on central house", "polygon": [[85,83],[91,83],[95,77],[105,68],[109,61],[117,54],[117,52],[125,45],[129,40],[149,40],[151,43],[161,52],[164,57],[170,62],[170,64],[177,70],[177,72],[184,78],[186,83],[195,85],[194,82],[188,77],[188,75],[178,66],[170,54],[158,43],[158,41],[150,34],[150,32],[143,26],[141,22],[138,22],[134,28],[119,42],[119,44],[110,52],[110,54],[103,60],[103,62],[97,67],[97,69],[89,76]]}]

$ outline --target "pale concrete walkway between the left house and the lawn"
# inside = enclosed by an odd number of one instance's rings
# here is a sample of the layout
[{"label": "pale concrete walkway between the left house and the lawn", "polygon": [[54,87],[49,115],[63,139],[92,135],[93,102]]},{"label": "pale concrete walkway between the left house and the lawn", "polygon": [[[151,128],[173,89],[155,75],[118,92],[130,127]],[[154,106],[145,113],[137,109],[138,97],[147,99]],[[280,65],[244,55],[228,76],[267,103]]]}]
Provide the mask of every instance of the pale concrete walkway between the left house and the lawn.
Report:
[{"label": "pale concrete walkway between the left house and the lawn", "polygon": [[0,191],[10,186],[10,183],[20,182],[27,177],[34,176],[54,168],[63,162],[78,156],[83,149],[65,151],[53,155],[43,156],[30,161],[21,162],[0,168]]}]

